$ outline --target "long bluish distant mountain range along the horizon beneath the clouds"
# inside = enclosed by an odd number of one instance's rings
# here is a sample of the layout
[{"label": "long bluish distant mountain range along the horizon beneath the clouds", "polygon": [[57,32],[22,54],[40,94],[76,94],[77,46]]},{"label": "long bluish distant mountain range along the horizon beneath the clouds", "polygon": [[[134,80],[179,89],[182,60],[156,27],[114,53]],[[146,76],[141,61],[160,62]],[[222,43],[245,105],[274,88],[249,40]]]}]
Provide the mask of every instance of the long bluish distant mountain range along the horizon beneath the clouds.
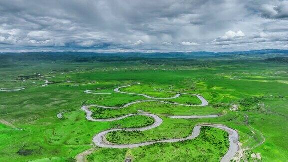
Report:
[{"label": "long bluish distant mountain range along the horizon beneath the clouds", "polygon": [[[0,61],[119,61],[147,58],[180,59],[267,59],[287,57],[288,50],[264,49],[236,52],[170,52],[170,53],[95,53],[95,52],[26,52],[0,53]],[[282,58],[281,58],[282,59]]]}]

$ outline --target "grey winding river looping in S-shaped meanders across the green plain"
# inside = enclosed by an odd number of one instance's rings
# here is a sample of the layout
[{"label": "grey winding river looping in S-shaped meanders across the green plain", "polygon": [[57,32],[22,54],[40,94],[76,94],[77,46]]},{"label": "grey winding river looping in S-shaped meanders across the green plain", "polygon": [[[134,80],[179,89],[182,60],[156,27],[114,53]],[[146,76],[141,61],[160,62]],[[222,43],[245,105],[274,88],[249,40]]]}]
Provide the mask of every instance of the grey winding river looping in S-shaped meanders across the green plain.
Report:
[{"label": "grey winding river looping in S-shaped meanders across the green plain", "polygon": [[[229,142],[230,142],[229,149],[228,149],[227,153],[222,157],[221,161],[230,161],[230,159],[236,155],[236,152],[239,150],[239,145],[238,145],[238,143],[239,143],[239,135],[238,135],[238,132],[236,130],[234,130],[234,129],[231,129],[231,128],[229,128],[229,127],[227,127],[225,125],[221,125],[221,124],[210,124],[210,123],[198,124],[198,125],[196,125],[193,128],[192,134],[190,136],[188,136],[188,137],[185,137],[185,138],[165,139],[165,140],[149,141],[149,142],[142,142],[142,143],[135,143],[135,144],[115,144],[115,143],[111,143],[111,142],[106,141],[105,135],[108,134],[109,132],[119,131],[119,130],[124,130],[124,131],[145,131],[145,130],[150,130],[150,129],[153,129],[153,128],[156,128],[156,127],[160,126],[162,124],[163,120],[159,116],[157,116],[155,114],[145,113],[145,112],[127,114],[127,115],[123,115],[123,116],[120,116],[120,117],[114,117],[114,118],[95,119],[95,118],[93,118],[91,116],[92,115],[92,111],[89,110],[90,107],[118,109],[118,108],[124,108],[124,107],[130,106],[132,104],[140,103],[140,102],[151,102],[151,101],[168,103],[168,104],[175,104],[175,105],[183,105],[183,106],[206,106],[206,105],[208,105],[208,101],[204,97],[202,97],[202,96],[200,96],[198,94],[180,93],[180,94],[176,94],[173,97],[156,98],[156,97],[148,96],[146,94],[129,93],[129,92],[123,92],[123,91],[119,90],[120,88],[124,88],[124,87],[128,87],[128,86],[131,86],[131,85],[118,87],[118,88],[114,89],[114,91],[118,92],[118,93],[124,93],[124,94],[141,95],[141,96],[144,96],[144,97],[149,98],[149,99],[173,99],[173,98],[177,98],[177,97],[179,97],[179,96],[181,96],[183,94],[194,95],[194,96],[197,96],[201,100],[201,104],[199,104],[199,105],[189,105],[189,104],[181,104],[181,103],[171,103],[171,102],[166,102],[166,101],[161,101],[161,100],[140,100],[140,101],[127,103],[127,104],[125,104],[122,107],[107,107],[107,106],[101,106],[101,105],[85,105],[85,106],[82,106],[81,109],[86,112],[86,119],[90,120],[90,121],[107,122],[107,121],[120,120],[120,119],[129,117],[129,116],[133,116],[133,115],[149,116],[149,117],[152,117],[155,120],[155,122],[152,125],[149,125],[149,126],[146,126],[146,127],[140,127],[140,128],[113,128],[113,129],[102,131],[102,132],[98,133],[97,135],[95,135],[93,137],[92,141],[95,143],[96,146],[106,147],[106,148],[135,148],[135,147],[140,147],[140,146],[145,146],[145,145],[151,145],[151,144],[154,144],[154,143],[168,143],[168,142],[180,142],[180,141],[185,141],[185,140],[192,140],[192,139],[196,138],[197,136],[199,136],[200,128],[202,126],[209,126],[209,127],[215,127],[215,128],[222,129],[222,130],[224,130],[224,131],[229,133],[229,136],[228,136]],[[91,92],[87,92],[87,91],[89,91],[89,90],[86,90],[85,92],[86,93],[91,93]],[[93,93],[93,94],[98,94],[98,93]],[[104,94],[106,94],[106,93],[104,93]],[[170,118],[175,118],[175,119],[178,119],[178,118],[189,119],[189,118],[211,118],[211,117],[219,117],[219,116],[220,115],[215,114],[215,115],[191,115],[191,116],[179,116],[178,115],[178,116],[169,116],[169,117]]]}]

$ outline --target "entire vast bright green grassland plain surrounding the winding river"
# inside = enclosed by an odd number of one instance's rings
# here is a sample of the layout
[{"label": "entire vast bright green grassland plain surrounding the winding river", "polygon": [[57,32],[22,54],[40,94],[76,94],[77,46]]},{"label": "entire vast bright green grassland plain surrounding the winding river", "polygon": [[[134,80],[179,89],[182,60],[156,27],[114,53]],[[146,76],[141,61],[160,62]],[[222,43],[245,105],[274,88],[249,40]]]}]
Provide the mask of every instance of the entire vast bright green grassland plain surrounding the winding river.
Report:
[{"label": "entire vast bright green grassland plain surrounding the winding river", "polygon": [[[159,62],[159,63],[156,63]],[[110,128],[143,127],[154,121],[146,116],[130,116],[112,122],[85,119],[82,105],[120,107],[139,95],[113,92],[121,89],[153,97],[194,93],[205,97],[205,107],[143,102],[121,109],[90,108],[94,118],[111,118],[138,110],[163,119],[154,129],[142,132],[111,132],[107,140],[137,143],[186,137],[198,123],[220,123],[240,135],[244,159],[261,153],[263,161],[288,159],[288,66],[287,63],[259,60],[175,60],[175,61],[93,61],[93,62],[13,62],[0,68],[0,88],[21,87],[14,92],[0,91],[0,161],[73,161],[93,147],[92,138]],[[47,86],[42,80],[49,80]],[[109,95],[84,93],[94,90]],[[195,96],[182,95],[169,102],[199,104]],[[238,105],[237,111],[220,103]],[[68,111],[63,118],[57,113]],[[218,118],[173,119],[171,115],[224,114]],[[20,129],[15,129],[20,128]],[[227,150],[225,131],[202,127],[200,136],[184,142],[161,143],[133,149],[96,148],[90,161],[217,161]],[[264,141],[264,142],[263,142]],[[263,142],[261,144],[261,142]]]}]

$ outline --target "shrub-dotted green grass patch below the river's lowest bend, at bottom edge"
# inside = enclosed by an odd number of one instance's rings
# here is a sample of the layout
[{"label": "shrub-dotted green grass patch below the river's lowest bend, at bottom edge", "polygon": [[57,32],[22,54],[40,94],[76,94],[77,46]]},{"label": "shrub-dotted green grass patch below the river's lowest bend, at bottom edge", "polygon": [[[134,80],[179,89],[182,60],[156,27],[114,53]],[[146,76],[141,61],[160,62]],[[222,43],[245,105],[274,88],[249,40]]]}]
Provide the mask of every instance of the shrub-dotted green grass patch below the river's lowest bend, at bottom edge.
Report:
[{"label": "shrub-dotted green grass patch below the river's lowest bend, at bottom edge", "polygon": [[[227,150],[227,133],[211,127],[202,127],[194,140],[177,143],[158,143],[134,149],[99,148],[88,156],[90,161],[219,161]],[[199,143],[201,143],[199,145]]]}]

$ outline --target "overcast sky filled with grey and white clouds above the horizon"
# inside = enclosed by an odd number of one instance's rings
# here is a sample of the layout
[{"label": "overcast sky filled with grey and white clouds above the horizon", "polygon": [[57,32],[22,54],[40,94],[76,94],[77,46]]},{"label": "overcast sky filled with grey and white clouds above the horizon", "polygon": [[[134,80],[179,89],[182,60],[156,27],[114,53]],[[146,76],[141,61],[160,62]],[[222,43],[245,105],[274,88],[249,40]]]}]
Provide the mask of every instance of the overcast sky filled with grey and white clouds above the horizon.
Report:
[{"label": "overcast sky filled with grey and white clouds above the horizon", "polygon": [[0,0],[0,52],[288,48],[288,0]]}]

